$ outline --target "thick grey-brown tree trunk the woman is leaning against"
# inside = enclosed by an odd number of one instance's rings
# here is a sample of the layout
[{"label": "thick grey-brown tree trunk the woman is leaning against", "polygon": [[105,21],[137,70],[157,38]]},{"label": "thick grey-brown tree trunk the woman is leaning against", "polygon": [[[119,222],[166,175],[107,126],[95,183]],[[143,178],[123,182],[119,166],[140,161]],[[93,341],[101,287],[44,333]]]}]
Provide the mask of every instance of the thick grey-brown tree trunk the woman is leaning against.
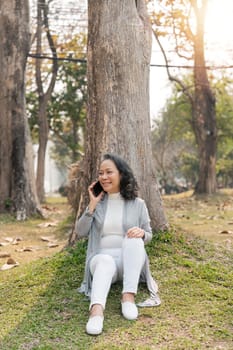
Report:
[{"label": "thick grey-brown tree trunk the woman is leaning against", "polygon": [[[131,165],[152,227],[167,221],[152,167],[149,115],[151,28],[144,1],[88,2],[88,97],[81,213],[105,152]],[[78,214],[79,215],[79,214]],[[70,242],[75,240],[71,236]]]}]

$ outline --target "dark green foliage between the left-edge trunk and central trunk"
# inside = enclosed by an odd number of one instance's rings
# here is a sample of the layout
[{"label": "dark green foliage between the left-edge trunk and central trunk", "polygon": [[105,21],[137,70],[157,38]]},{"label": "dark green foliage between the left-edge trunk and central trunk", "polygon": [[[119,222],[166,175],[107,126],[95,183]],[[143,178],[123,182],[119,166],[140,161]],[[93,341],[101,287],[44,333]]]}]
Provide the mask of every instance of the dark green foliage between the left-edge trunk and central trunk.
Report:
[{"label": "dark green foliage between the left-edge trunk and central trunk", "polygon": [[[49,138],[54,144],[51,155],[61,169],[76,162],[83,154],[87,103],[86,37],[85,33],[67,35],[65,42],[57,42],[56,45],[59,68],[55,88],[48,102],[47,118]],[[30,62],[30,71],[31,67]],[[38,143],[38,98],[33,80],[30,79],[27,111],[34,142]]]}]

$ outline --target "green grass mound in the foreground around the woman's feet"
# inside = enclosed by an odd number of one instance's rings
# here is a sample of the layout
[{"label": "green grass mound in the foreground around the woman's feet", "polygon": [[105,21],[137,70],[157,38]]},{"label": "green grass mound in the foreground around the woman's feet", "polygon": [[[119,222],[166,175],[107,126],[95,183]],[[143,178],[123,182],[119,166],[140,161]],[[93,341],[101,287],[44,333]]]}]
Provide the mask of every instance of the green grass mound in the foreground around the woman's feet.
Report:
[{"label": "green grass mound in the foreground around the woman's feet", "polygon": [[[121,286],[111,289],[104,332],[85,333],[88,301],[77,293],[85,242],[0,273],[0,349],[233,349],[233,254],[200,238],[161,233],[148,246],[162,304],[120,315]],[[147,295],[140,286],[137,300]]]}]

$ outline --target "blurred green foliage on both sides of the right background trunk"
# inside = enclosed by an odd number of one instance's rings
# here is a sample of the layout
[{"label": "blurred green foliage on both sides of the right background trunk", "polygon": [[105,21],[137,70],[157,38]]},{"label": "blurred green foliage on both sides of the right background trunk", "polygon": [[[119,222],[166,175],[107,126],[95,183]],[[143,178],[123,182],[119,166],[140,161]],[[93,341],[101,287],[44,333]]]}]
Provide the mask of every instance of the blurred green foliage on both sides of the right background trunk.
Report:
[{"label": "blurred green foliage on both sides of the right background trunk", "polygon": [[[190,76],[184,78],[186,82],[188,79]],[[218,186],[228,187],[232,184],[233,174],[233,85],[229,77],[221,72],[218,78],[211,80],[211,86],[216,95],[219,135],[217,182]],[[195,186],[198,152],[192,128],[192,110],[178,84],[173,88],[160,117],[154,121],[152,145],[156,169],[164,188],[174,189],[179,178],[184,178],[189,186]]]}]

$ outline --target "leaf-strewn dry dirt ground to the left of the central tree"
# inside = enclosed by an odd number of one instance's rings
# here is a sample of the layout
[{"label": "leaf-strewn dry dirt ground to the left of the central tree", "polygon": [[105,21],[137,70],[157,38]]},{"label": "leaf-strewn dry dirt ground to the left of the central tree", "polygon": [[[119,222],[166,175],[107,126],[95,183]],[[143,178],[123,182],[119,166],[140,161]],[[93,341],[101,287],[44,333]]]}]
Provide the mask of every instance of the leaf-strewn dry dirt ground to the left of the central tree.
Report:
[{"label": "leaf-strewn dry dirt ground to the left of the central tree", "polygon": [[69,229],[61,234],[59,227],[71,214],[66,198],[49,199],[42,209],[44,219],[12,222],[0,217],[0,269],[9,258],[12,265],[22,265],[61,251],[67,244]]}]

